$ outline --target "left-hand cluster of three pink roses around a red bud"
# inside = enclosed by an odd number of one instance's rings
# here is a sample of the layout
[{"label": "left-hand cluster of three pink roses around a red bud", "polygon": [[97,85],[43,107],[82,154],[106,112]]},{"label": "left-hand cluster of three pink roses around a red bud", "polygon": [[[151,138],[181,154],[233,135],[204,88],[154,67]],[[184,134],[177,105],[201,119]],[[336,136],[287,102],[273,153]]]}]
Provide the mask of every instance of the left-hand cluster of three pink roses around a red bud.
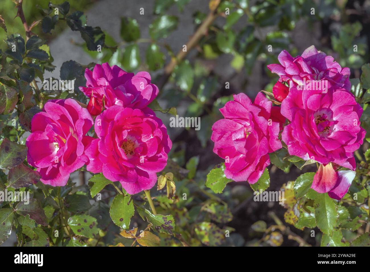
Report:
[{"label": "left-hand cluster of three pink roses around a red bud", "polygon": [[[166,127],[147,107],[157,86],[147,72],[134,75],[108,63],[86,69],[85,77],[80,90],[90,97],[88,105],[49,100],[33,117],[28,163],[52,186],[66,185],[70,173],[87,165],[130,194],[151,189],[172,147]],[[93,125],[95,137],[87,136]]]}]

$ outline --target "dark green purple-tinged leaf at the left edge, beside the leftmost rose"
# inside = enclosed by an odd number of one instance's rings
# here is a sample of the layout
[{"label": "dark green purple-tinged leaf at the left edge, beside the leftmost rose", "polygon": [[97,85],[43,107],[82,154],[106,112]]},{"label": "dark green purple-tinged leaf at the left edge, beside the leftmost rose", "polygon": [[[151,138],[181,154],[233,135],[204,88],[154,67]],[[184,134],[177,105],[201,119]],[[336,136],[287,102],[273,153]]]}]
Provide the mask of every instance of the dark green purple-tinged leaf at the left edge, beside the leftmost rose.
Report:
[{"label": "dark green purple-tinged leaf at the left edge, beside the leftmost rose", "polygon": [[5,138],[0,148],[0,169],[16,167],[26,159],[27,147]]}]

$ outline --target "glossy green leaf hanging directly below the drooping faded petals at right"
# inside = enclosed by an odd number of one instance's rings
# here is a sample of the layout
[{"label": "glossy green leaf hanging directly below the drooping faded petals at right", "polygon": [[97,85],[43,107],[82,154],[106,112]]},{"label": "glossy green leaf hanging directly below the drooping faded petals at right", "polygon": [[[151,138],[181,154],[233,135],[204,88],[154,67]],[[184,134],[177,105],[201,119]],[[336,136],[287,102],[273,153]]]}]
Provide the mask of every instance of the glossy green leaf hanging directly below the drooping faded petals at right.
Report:
[{"label": "glossy green leaf hanging directly below the drooping faded petals at right", "polygon": [[314,200],[315,219],[319,229],[332,236],[338,220],[338,207],[327,193],[320,193]]}]

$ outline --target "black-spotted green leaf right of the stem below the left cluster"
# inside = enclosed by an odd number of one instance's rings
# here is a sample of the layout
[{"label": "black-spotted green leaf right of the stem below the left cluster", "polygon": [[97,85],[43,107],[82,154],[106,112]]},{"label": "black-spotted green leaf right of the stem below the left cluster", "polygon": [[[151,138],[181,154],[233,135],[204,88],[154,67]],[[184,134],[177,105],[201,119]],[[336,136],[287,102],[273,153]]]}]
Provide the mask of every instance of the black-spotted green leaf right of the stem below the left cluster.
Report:
[{"label": "black-spotted green leaf right of the stem below the left cluster", "polygon": [[154,215],[149,210],[141,207],[137,207],[137,211],[142,219],[145,220],[146,218],[149,223],[153,224],[151,228],[156,232],[174,233],[175,219],[172,215]]}]

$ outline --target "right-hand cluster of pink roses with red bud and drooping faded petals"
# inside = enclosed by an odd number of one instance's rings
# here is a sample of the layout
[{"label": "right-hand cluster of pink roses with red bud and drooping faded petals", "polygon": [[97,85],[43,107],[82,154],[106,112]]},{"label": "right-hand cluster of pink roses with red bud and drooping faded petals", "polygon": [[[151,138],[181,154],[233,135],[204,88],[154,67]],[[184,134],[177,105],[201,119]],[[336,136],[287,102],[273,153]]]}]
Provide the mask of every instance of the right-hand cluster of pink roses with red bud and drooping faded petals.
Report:
[{"label": "right-hand cluster of pink roses with red bud and drooping faded petals", "polygon": [[225,159],[227,178],[255,183],[270,163],[268,153],[282,147],[281,129],[289,155],[320,163],[311,188],[341,199],[355,176],[354,151],[366,134],[363,109],[350,93],[349,68],[314,46],[295,58],[283,50],[278,59],[268,68],[279,75],[272,95],[281,107],[262,93],[254,105],[245,94],[234,96],[220,109],[225,119],[212,127],[213,151]]}]

